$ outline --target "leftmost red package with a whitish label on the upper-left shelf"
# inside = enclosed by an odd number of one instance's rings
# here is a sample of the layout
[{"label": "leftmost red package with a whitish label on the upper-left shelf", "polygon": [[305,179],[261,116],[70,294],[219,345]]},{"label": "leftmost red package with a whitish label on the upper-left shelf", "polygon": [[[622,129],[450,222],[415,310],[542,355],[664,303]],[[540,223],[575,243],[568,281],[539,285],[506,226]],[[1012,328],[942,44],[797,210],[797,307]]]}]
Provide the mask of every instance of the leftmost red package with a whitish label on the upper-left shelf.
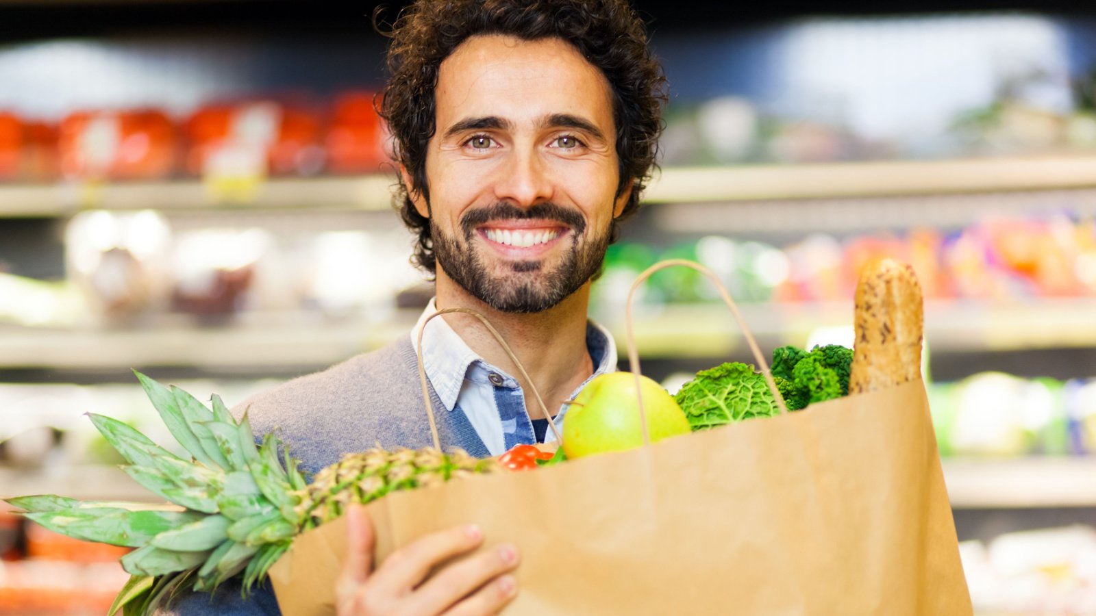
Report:
[{"label": "leftmost red package with a whitish label on the upper-left shelf", "polygon": [[61,122],[58,149],[66,178],[164,178],[174,171],[175,128],[158,110],[77,112]]}]

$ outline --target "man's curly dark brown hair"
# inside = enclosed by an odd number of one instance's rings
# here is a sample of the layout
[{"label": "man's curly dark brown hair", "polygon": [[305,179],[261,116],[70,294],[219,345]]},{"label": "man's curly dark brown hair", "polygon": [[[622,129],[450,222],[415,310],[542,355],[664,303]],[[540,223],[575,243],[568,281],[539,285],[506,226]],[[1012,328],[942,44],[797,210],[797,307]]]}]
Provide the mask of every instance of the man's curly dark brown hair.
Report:
[{"label": "man's curly dark brown hair", "polygon": [[625,0],[418,0],[400,13],[389,35],[389,80],[378,110],[395,137],[395,158],[413,186],[400,182],[396,207],[418,235],[412,262],[436,273],[430,219],[414,208],[410,191],[430,199],[426,147],[437,129],[434,90],[442,61],[476,35],[503,34],[524,41],[561,38],[601,69],[613,92],[620,183],[631,195],[614,220],[635,213],[650,179],[662,133],[666,80],[647,44],[643,22]]}]

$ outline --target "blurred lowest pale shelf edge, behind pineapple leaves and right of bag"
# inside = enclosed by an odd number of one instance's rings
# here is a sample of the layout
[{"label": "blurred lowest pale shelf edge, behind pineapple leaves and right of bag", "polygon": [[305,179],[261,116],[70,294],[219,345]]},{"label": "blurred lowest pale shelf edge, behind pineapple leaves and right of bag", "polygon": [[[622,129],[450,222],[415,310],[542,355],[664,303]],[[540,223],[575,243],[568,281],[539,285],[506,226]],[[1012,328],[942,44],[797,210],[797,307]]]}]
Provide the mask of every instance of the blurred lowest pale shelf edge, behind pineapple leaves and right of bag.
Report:
[{"label": "blurred lowest pale shelf edge, behind pineapple leaves and right of bag", "polygon": [[[1096,506],[1096,458],[946,458],[944,475],[956,509]],[[42,493],[83,500],[159,500],[111,466],[0,466],[0,498]]]}]

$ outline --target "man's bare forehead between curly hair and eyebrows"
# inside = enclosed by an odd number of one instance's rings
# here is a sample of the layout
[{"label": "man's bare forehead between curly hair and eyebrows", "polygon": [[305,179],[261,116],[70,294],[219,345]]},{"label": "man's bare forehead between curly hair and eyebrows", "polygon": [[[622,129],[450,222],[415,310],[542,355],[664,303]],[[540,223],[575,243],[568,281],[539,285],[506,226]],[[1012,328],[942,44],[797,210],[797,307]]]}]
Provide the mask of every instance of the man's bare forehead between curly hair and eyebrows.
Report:
[{"label": "man's bare forehead between curly hair and eyebrows", "polygon": [[520,124],[572,114],[613,134],[608,80],[559,38],[473,36],[442,62],[435,100],[441,130],[469,117],[496,116]]}]

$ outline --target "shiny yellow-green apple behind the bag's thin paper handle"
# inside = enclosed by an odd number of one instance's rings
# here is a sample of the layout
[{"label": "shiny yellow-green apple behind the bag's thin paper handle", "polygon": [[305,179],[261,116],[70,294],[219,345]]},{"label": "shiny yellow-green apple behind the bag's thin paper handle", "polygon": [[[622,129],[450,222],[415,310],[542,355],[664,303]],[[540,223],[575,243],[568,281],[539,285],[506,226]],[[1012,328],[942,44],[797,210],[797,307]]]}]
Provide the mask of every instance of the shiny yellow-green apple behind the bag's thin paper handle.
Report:
[{"label": "shiny yellow-green apple behind the bag's thin paper handle", "polygon": [[[639,377],[643,411],[651,443],[692,432],[688,419],[661,385]],[[563,453],[568,459],[590,454],[619,452],[643,444],[639,423],[636,375],[607,373],[595,376],[567,410],[563,420]]]}]

